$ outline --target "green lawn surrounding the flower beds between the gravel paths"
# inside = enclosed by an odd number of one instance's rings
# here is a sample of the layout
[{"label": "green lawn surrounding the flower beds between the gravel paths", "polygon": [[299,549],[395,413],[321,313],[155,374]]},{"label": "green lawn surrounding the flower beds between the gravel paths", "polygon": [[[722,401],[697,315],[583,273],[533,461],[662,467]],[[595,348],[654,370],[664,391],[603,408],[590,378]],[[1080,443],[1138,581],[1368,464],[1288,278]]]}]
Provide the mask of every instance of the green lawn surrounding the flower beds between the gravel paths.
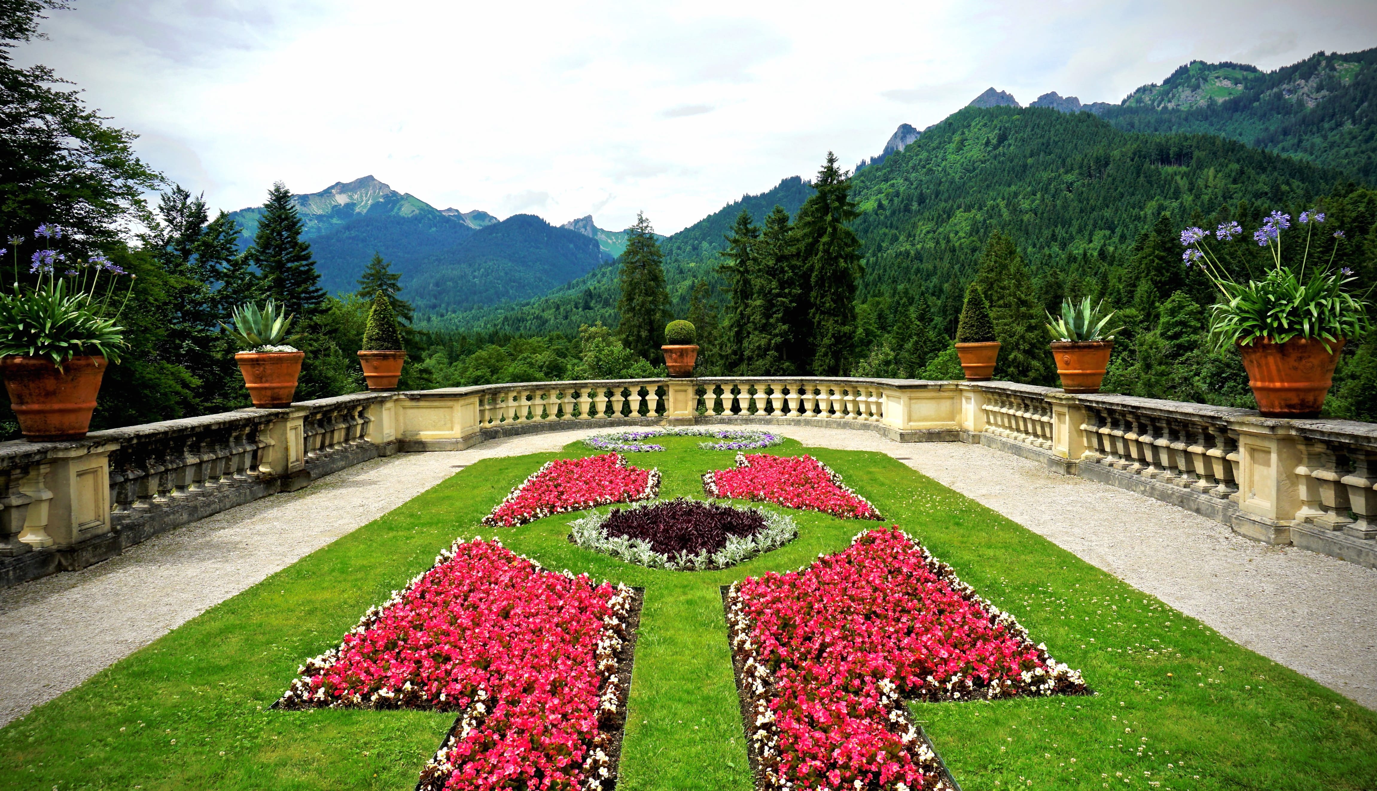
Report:
[{"label": "green lawn surrounding the flower beds between the gravel paths", "polygon": [[[693,437],[657,442],[669,450],[633,464],[660,466],[662,497],[702,497],[698,476],[733,459]],[[790,440],[771,453],[799,450]],[[876,523],[793,512],[797,541],[719,572],[653,571],[580,549],[566,541],[571,514],[479,530],[540,464],[589,453],[571,444],[478,462],[207,611],[0,730],[0,788],[410,790],[453,714],[269,706],[300,660],[336,645],[454,537],[497,532],[549,568],[646,587],[618,790],[749,790],[717,586],[797,568]],[[967,791],[1377,787],[1371,711],[885,455],[810,453],[1099,693],[916,704]]]}]

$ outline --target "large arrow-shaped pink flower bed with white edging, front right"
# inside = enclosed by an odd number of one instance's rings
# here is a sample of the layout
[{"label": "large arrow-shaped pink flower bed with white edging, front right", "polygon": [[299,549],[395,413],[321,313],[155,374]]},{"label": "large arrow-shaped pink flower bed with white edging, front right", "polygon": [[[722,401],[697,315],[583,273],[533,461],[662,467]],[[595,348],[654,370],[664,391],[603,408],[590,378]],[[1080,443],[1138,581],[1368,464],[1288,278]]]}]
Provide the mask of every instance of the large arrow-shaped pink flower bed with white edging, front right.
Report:
[{"label": "large arrow-shaped pink flower bed with white edging, front right", "polygon": [[727,614],[767,788],[947,788],[903,700],[1088,693],[898,527],[733,585]]}]

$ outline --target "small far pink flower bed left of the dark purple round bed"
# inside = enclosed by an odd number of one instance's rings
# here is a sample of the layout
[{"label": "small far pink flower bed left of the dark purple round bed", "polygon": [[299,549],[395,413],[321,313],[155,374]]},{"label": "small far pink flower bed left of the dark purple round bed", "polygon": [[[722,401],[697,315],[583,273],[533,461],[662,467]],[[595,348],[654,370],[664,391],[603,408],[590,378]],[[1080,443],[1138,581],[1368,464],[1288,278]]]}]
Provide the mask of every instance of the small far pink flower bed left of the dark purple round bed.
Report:
[{"label": "small far pink flower bed left of the dark purple round bed", "polygon": [[650,499],[658,491],[658,469],[631,466],[618,454],[560,458],[523,480],[483,517],[483,524],[515,527],[552,513]]}]

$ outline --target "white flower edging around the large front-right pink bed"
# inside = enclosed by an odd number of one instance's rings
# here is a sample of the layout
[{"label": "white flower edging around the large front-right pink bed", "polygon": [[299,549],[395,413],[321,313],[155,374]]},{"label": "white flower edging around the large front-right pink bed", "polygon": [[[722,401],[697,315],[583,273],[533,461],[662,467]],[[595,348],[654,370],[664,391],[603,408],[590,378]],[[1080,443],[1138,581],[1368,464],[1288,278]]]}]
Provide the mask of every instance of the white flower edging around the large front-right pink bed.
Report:
[{"label": "white flower edging around the large front-right pink bed", "polygon": [[[851,537],[851,545],[855,546],[855,543],[861,541],[861,538],[865,537],[868,532],[870,532],[870,530],[862,530],[861,532]],[[956,570],[953,570],[946,563],[942,563],[940,560],[934,557],[932,553],[928,552],[928,548],[924,546],[920,541],[917,541],[905,531],[899,532],[923,552],[923,557],[924,561],[927,563],[927,567],[939,578],[946,579],[947,585],[952,586],[952,590],[979,604],[980,608],[985,611],[985,614],[990,618],[991,625],[1008,627],[1009,636],[1022,641],[1024,645],[1033,644],[1033,638],[1029,636],[1029,630],[1024,629],[1022,623],[1019,623],[1018,618],[1015,618],[1009,612],[1000,609],[998,607],[994,605],[994,603],[986,600],[983,596],[976,593],[974,587],[971,587],[965,582],[961,582],[961,578],[956,575]],[[826,557],[826,554],[818,553],[818,557],[822,559]],[[801,565],[796,571],[803,572],[808,570],[810,565]],[[767,666],[761,664],[760,662],[756,662],[755,652],[759,647],[750,638],[750,629],[752,629],[750,618],[745,614],[745,605],[741,601],[741,581],[737,581],[733,582],[731,586],[727,589],[727,638],[731,642],[733,655],[735,655],[735,652],[739,649],[746,656],[741,669],[741,682],[746,685],[745,692],[749,699],[750,714],[755,715],[755,732],[749,733],[749,737],[750,743],[753,744],[753,748],[756,750],[757,758],[766,758],[770,755],[779,754],[779,729],[774,724],[774,711],[770,710],[771,691],[774,688],[774,675],[770,673],[770,669]],[[1085,686],[1085,680],[1081,677],[1080,670],[1071,670],[1064,663],[1056,662],[1052,658],[1052,655],[1047,651],[1047,645],[1042,642],[1037,644],[1037,649],[1040,652],[1038,659],[1041,659],[1042,663],[1049,670],[1042,670],[1041,667],[1038,667],[1036,670],[1023,671],[1022,673],[1023,684],[1018,685],[1018,692],[1026,695],[1051,696],[1056,693],[1055,689],[1058,680],[1064,680],[1071,684],[1080,685],[1082,689],[1086,691],[1086,693],[1091,693],[1089,688]],[[931,675],[928,677],[928,681],[932,681]],[[953,686],[957,686],[961,682],[960,675],[953,675],[952,680],[946,684],[947,688],[946,699],[979,700],[983,693],[983,697],[989,700],[998,697],[1002,691],[1007,691],[1009,688],[1009,685],[1005,685],[1001,689],[998,680],[996,680],[990,686],[986,688],[976,688],[975,682],[972,681],[972,677],[969,675],[965,677],[964,681],[965,681],[965,696],[963,697],[961,689],[953,689]],[[923,766],[924,774],[932,773],[940,777],[940,769],[939,769],[940,765],[938,762],[938,757],[935,752],[932,752],[932,750],[928,748],[927,743],[918,737],[918,732],[913,726],[913,719],[912,717],[909,717],[907,707],[899,697],[898,685],[894,684],[894,681],[885,678],[879,682],[879,688],[881,696],[880,704],[890,708],[890,722],[896,724],[901,729],[898,733],[899,740],[907,747],[916,747],[914,755],[918,759],[920,765]],[[749,730],[750,724],[748,722],[746,725]],[[778,776],[774,770],[764,772],[764,783],[767,788],[792,788],[789,781]],[[938,788],[942,787],[943,785],[939,785]],[[909,787],[905,785],[903,783],[895,783],[887,791],[909,791]]]}]

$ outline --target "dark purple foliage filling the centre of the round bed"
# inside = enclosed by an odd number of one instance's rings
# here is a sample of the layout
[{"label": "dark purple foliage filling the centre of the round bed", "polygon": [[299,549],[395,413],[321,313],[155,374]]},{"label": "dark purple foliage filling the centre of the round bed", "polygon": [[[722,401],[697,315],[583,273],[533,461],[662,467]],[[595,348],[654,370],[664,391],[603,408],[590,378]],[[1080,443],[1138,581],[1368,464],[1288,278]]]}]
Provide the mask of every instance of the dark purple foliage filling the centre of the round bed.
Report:
[{"label": "dark purple foliage filling the centre of the round bed", "polygon": [[647,508],[614,508],[603,521],[603,532],[636,538],[660,554],[717,552],[727,537],[749,537],[766,528],[756,510],[737,509],[698,499],[671,499]]}]

